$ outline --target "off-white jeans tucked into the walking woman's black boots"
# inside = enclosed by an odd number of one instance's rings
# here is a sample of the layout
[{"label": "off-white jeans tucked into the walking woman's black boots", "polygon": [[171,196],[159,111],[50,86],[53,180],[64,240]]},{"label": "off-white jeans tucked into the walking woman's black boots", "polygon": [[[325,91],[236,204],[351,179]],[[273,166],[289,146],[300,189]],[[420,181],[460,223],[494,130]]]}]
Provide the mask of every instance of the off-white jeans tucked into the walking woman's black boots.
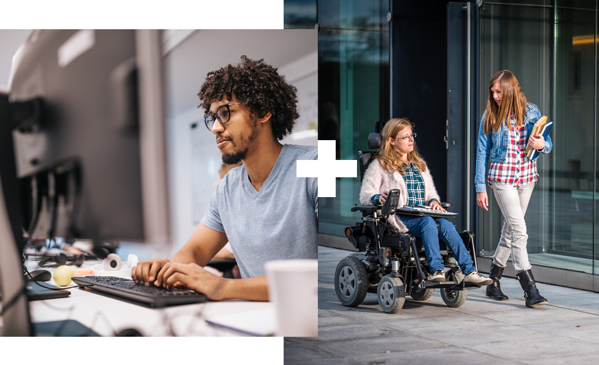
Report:
[{"label": "off-white jeans tucked into the walking woman's black boots", "polygon": [[526,222],[524,214],[528,207],[528,201],[533,193],[534,182],[513,187],[509,184],[492,181],[493,193],[501,213],[503,214],[503,228],[497,250],[493,255],[493,261],[497,266],[506,267],[507,259],[512,254],[512,263],[516,272],[529,270],[528,262]]}]

